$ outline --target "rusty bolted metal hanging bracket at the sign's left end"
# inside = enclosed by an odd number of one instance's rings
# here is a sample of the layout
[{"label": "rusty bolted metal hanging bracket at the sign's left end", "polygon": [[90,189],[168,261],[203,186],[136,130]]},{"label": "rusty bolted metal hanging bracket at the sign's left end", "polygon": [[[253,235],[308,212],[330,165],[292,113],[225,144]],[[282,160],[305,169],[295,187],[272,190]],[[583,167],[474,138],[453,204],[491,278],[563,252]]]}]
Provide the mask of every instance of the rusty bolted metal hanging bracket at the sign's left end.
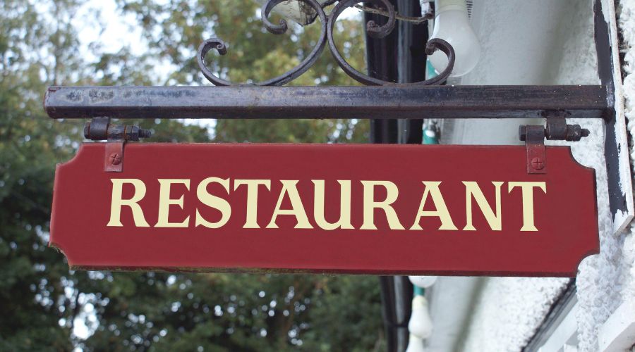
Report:
[{"label": "rusty bolted metal hanging bracket at the sign's left end", "polygon": [[150,130],[142,130],[138,126],[112,125],[110,118],[92,118],[84,126],[84,137],[93,141],[107,140],[104,155],[105,172],[123,171],[123,147],[128,141],[138,141],[150,137]]}]

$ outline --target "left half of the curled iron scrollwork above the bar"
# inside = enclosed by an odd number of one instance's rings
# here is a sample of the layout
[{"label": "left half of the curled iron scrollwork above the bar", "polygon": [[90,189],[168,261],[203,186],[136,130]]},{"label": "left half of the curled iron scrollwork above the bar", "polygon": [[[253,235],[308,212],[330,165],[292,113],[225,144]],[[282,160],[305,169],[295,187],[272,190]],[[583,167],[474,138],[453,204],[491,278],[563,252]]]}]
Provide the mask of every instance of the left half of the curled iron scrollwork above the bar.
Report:
[{"label": "left half of the curled iron scrollwork above the bar", "polygon": [[[284,32],[286,32],[286,29],[287,29],[285,20],[280,20],[279,25],[274,25],[268,19],[272,9],[277,4],[280,4],[282,1],[285,1],[285,0],[268,0],[262,6],[262,23],[265,25],[265,28],[267,28],[267,30],[273,34],[283,34]],[[279,86],[279,85],[283,85],[288,82],[291,82],[292,80],[295,80],[297,77],[300,77],[303,73],[306,72],[306,70],[308,70],[311,66],[313,66],[315,61],[317,61],[317,58],[319,58],[320,54],[322,54],[322,50],[324,50],[324,46],[326,44],[327,16],[325,15],[324,10],[322,10],[322,7],[316,0],[298,0],[298,1],[302,1],[303,3],[311,6],[317,12],[317,16],[320,17],[320,25],[322,27],[322,30],[320,31],[320,39],[317,40],[317,44],[315,44],[315,47],[308,54],[308,56],[306,56],[306,58],[304,58],[304,60],[301,63],[299,63],[296,67],[292,68],[286,73],[283,73],[282,75],[279,75],[278,77],[274,77],[270,80],[257,82],[253,84],[258,86]],[[218,51],[218,54],[221,54],[221,55],[224,55],[227,53],[227,47],[225,46],[225,43],[222,41],[222,39],[210,38],[205,40],[205,42],[202,42],[200,46],[198,47],[198,54],[196,56],[196,59],[198,61],[198,67],[200,68],[202,74],[205,76],[205,78],[207,78],[207,80],[209,80],[210,82],[212,82],[214,85],[217,85],[217,86],[236,85],[235,83],[229,82],[227,80],[223,80],[217,75],[214,75],[214,73],[212,73],[212,71],[209,68],[207,68],[207,65],[205,65],[205,56],[212,49],[216,49]]]}]

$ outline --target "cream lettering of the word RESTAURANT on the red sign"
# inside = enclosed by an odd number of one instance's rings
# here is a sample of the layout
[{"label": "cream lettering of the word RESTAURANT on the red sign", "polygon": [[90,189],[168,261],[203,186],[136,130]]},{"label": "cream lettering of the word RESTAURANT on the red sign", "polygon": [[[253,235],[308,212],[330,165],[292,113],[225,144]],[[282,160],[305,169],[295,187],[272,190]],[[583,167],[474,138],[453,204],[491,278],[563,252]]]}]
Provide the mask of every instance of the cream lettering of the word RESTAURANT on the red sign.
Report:
[{"label": "cream lettering of the word RESTAURANT on the red sign", "polygon": [[[507,220],[513,223],[509,227],[505,225],[506,228],[536,232],[534,209],[536,202],[543,199],[536,198],[536,194],[540,191],[547,194],[546,182],[520,181],[449,183],[423,180],[418,186],[409,185],[407,189],[400,189],[399,184],[389,180],[231,180],[229,177],[207,177],[195,181],[192,189],[192,180],[189,179],[155,179],[155,182],[158,182],[158,187],[153,185],[149,188],[143,180],[111,179],[107,226],[150,227],[145,217],[152,213],[152,204],[148,204],[148,200],[142,202],[150,191],[157,192],[157,196],[151,199],[158,199],[154,204],[157,207],[154,227],[215,230],[238,222],[239,227],[246,230],[261,229],[265,224],[265,229],[274,230],[289,228],[291,225],[279,221],[281,217],[291,216],[295,220],[294,229],[307,230],[405,230],[402,225],[405,223],[409,225],[409,230],[424,232],[501,231],[506,221],[504,203],[505,206],[520,208],[523,215],[522,223],[517,217]],[[503,196],[501,189],[505,183],[507,192]],[[216,185],[217,191],[208,190],[212,184]],[[128,187],[132,187],[131,195],[124,198],[123,191],[130,189]],[[236,192],[238,189],[244,191]],[[233,191],[231,196],[230,191]],[[400,196],[400,191],[405,193]],[[447,196],[448,191],[452,196]],[[456,199],[457,191],[464,195],[461,201]],[[416,196],[416,201],[413,196]],[[130,209],[131,213],[122,214],[122,208]],[[220,218],[212,219],[210,213],[204,211],[206,208],[217,210]],[[481,215],[487,225],[475,226],[474,217]],[[430,225],[430,218],[438,218],[440,225]],[[456,219],[465,219],[465,223],[458,224]],[[433,223],[438,224],[436,221]]]}]

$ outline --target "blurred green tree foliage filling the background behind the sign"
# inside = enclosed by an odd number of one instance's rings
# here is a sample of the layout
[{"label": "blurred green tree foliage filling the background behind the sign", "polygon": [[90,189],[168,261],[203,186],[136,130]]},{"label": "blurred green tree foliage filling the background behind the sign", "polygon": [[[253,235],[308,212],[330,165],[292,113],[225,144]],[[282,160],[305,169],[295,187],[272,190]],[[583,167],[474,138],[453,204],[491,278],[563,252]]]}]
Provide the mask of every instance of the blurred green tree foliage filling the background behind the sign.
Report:
[{"label": "blurred green tree foliage filling the background behind the sign", "polygon": [[[143,26],[147,53],[124,47],[81,55],[81,0],[0,0],[0,350],[369,351],[384,346],[377,279],[363,276],[72,272],[47,248],[56,163],[73,157],[83,121],[54,121],[42,96],[54,84],[207,84],[193,61],[206,37],[229,53],[210,68],[236,82],[296,65],[317,25],[266,33],[250,0],[120,0]],[[277,20],[274,18],[274,20]],[[92,23],[92,22],[91,22]],[[97,21],[95,21],[97,23]],[[337,25],[342,51],[363,69],[362,27]],[[169,67],[162,75],[157,65]],[[353,84],[327,50],[293,84]],[[208,132],[144,120],[153,142],[365,142],[355,120],[219,120]],[[90,337],[73,334],[86,325]]]}]

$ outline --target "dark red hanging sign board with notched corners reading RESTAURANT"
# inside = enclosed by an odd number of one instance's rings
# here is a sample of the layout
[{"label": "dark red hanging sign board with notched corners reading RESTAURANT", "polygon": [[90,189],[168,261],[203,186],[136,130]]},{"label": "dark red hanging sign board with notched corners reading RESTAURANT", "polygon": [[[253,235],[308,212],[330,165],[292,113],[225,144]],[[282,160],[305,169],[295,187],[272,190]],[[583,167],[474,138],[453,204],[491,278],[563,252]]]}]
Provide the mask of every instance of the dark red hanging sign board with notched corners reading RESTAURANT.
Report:
[{"label": "dark red hanging sign board with notched corners reading RESTAURANT", "polygon": [[[574,277],[595,172],[567,146],[83,144],[50,246],[73,269]],[[105,172],[121,163],[121,172]]]}]

